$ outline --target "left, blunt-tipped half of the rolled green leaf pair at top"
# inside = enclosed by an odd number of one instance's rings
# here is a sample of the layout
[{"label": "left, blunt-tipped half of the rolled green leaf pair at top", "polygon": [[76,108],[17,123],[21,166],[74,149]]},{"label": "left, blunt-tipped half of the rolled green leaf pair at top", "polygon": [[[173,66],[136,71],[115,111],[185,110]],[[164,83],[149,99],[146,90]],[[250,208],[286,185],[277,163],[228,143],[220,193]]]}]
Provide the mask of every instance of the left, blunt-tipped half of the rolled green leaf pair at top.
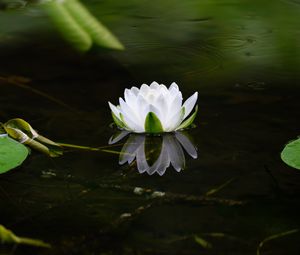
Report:
[{"label": "left, blunt-tipped half of the rolled green leaf pair at top", "polygon": [[92,38],[89,33],[76,22],[62,3],[59,1],[50,1],[43,6],[57,29],[60,30],[62,36],[75,49],[78,51],[88,51],[92,47]]}]

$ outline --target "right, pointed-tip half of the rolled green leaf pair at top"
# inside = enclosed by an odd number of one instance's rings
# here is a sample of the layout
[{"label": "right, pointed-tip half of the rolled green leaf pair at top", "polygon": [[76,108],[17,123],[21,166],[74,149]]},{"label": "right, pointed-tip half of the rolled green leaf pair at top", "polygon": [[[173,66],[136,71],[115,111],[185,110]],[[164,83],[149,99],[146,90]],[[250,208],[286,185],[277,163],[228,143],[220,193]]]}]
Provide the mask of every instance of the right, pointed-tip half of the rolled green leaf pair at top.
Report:
[{"label": "right, pointed-tip half of the rolled green leaf pair at top", "polygon": [[120,41],[80,1],[65,0],[63,5],[77,23],[91,36],[94,43],[115,50],[124,49]]}]

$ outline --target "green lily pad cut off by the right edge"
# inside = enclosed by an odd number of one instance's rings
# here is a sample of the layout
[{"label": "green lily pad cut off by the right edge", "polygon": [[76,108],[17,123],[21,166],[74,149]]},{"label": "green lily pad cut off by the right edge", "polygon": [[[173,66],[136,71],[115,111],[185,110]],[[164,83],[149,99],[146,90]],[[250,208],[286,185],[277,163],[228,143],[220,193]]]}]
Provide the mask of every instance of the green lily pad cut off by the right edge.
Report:
[{"label": "green lily pad cut off by the right edge", "polygon": [[281,152],[281,159],[287,165],[300,170],[300,138],[285,146]]}]

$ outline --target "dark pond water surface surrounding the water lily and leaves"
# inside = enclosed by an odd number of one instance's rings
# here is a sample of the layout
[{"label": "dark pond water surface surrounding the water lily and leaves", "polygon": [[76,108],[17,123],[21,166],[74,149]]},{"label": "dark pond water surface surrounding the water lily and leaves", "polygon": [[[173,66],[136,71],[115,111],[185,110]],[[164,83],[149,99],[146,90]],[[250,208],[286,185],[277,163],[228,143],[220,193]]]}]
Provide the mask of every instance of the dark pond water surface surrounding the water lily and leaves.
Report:
[{"label": "dark pond water surface surrounding the water lily and leaves", "polygon": [[[185,97],[199,92],[197,127],[185,132],[197,159],[185,152],[184,170],[160,176],[112,153],[33,151],[0,176],[0,224],[53,248],[0,254],[256,254],[264,239],[299,229],[300,173],[280,151],[300,133],[300,2],[83,2],[124,52],[77,54],[36,6],[0,11],[1,121],[20,117],[56,141],[106,146],[116,131],[107,101],[175,81]],[[152,163],[157,143],[180,146],[174,136],[146,140]],[[260,252],[299,254],[299,237]]]}]

